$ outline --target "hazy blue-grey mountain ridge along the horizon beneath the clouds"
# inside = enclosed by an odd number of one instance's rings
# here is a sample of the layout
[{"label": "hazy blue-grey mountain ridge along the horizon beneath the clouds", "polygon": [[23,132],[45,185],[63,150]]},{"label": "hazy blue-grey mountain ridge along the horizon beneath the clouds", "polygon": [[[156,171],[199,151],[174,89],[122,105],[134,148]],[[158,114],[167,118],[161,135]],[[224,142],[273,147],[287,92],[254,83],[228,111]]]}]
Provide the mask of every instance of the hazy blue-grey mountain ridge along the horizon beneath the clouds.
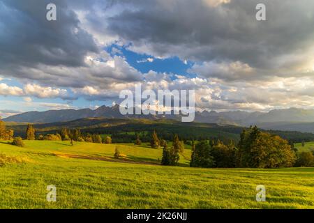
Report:
[{"label": "hazy blue-grey mountain ridge along the horizon beneath the clouds", "polygon": [[[6,122],[19,123],[54,123],[74,121],[80,118],[146,118],[157,120],[160,118],[181,120],[180,115],[122,115],[119,105],[113,107],[102,106],[98,109],[63,109],[46,112],[26,112],[3,118]],[[195,122],[216,123],[218,125],[258,125],[269,130],[295,130],[300,132],[314,132],[314,109],[276,109],[270,112],[195,112]]]}]

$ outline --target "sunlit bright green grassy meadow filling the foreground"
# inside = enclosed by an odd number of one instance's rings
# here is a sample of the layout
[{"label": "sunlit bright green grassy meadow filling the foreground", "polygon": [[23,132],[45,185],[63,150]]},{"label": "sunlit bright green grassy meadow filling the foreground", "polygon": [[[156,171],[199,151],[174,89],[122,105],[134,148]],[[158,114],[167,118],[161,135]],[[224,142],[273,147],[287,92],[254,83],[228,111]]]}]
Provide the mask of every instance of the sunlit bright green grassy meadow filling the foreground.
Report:
[{"label": "sunlit bright green grassy meadow filling the foreground", "polygon": [[[314,168],[196,169],[190,150],[181,167],[163,167],[161,149],[147,146],[25,143],[0,142],[15,157],[0,167],[0,208],[314,208]],[[112,158],[115,146],[122,160]],[[57,202],[47,202],[47,185]],[[256,185],[266,202],[255,201]]]}]

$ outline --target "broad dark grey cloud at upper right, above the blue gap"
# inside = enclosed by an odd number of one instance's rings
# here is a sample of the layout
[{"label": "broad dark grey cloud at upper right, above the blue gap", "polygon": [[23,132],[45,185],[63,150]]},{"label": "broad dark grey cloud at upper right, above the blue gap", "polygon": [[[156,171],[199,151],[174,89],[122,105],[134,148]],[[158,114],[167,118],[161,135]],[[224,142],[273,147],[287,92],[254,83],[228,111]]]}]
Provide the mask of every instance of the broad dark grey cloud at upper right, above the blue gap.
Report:
[{"label": "broad dark grey cloud at upper right, above the blue gap", "polygon": [[[313,45],[312,0],[232,0],[216,7],[208,0],[114,2],[133,8],[111,17],[110,31],[132,42],[133,49],[157,56],[278,68],[283,54]],[[255,20],[257,3],[267,6],[265,22]]]}]

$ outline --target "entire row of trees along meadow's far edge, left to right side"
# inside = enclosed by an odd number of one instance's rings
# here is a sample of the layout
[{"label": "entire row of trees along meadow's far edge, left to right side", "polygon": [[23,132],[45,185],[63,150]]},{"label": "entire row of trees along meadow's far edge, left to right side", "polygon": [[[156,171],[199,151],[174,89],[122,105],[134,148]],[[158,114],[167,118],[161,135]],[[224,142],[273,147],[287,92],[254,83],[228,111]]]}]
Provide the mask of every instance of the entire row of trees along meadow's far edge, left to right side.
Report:
[{"label": "entire row of trees along meadow's far edge, left to right side", "polygon": [[[13,130],[6,130],[5,123],[0,120],[0,139],[13,140],[13,145],[24,146],[22,138],[14,138],[13,135]],[[167,140],[158,137],[155,130],[151,133],[150,139],[147,139],[147,135],[147,132],[142,132],[147,145],[154,149],[163,148],[161,158],[163,165],[177,165],[180,154],[183,155],[184,153],[184,144],[190,144],[192,146],[190,167],[279,168],[314,166],[314,151],[297,153],[297,149],[294,148],[291,141],[282,139],[276,134],[261,131],[256,126],[243,130],[237,145],[232,140],[225,144],[219,139],[183,141],[179,140],[178,134],[174,134],[172,145],[168,146]],[[135,133],[134,137],[134,144],[140,146],[142,144],[141,134]],[[74,141],[112,144],[112,138],[109,136],[101,137],[100,134],[82,133],[80,129],[62,128],[56,134],[39,134],[36,136],[36,130],[31,124],[27,125],[25,139],[70,141],[72,145]],[[302,143],[302,146],[304,144]],[[116,156],[119,157],[117,154]]]}]

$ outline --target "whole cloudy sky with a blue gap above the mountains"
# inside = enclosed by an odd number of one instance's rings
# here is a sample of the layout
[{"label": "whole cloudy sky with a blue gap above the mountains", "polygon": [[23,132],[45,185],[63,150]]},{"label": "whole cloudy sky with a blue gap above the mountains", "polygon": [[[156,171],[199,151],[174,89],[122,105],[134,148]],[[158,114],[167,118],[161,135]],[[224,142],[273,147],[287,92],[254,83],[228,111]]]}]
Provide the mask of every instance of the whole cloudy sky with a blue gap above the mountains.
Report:
[{"label": "whole cloudy sky with a blue gap above the mountains", "polygon": [[197,109],[313,109],[313,14],[313,0],[0,0],[0,116],[111,106],[135,84],[193,89]]}]

